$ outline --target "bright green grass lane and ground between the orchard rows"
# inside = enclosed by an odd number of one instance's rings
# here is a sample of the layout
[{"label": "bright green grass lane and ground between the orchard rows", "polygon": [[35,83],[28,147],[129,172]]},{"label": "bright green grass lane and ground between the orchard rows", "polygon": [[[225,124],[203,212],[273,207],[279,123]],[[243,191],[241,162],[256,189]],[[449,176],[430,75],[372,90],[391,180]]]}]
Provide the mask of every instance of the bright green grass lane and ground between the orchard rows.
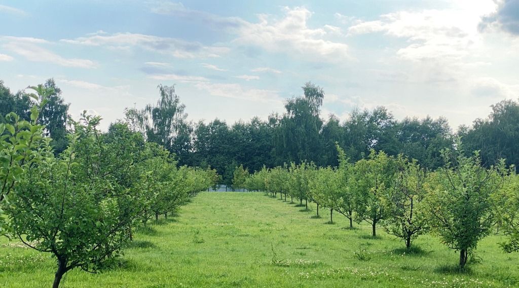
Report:
[{"label": "bright green grass lane and ground between the orchard rows", "polygon": [[[288,199],[290,200],[290,199]],[[517,287],[519,254],[489,236],[465,272],[458,254],[422,236],[415,249],[371,226],[349,229],[263,193],[200,193],[179,216],[135,235],[119,267],[67,273],[63,287]],[[0,240],[0,287],[49,287],[48,254]],[[404,253],[405,252],[405,253]]]}]

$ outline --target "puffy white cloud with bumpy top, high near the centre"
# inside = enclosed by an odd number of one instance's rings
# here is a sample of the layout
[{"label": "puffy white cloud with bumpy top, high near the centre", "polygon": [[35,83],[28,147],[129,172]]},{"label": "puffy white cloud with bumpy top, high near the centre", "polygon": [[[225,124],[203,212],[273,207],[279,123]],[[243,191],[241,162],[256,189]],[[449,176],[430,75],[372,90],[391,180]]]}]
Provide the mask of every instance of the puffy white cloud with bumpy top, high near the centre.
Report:
[{"label": "puffy white cloud with bumpy top, high near the centre", "polygon": [[262,47],[271,52],[288,53],[295,57],[305,57],[307,61],[340,61],[349,60],[348,46],[333,42],[327,36],[332,26],[310,29],[307,22],[311,12],[303,7],[284,8],[282,19],[271,19],[266,15],[258,15],[257,23],[246,22],[236,33],[234,41],[244,45]]}]

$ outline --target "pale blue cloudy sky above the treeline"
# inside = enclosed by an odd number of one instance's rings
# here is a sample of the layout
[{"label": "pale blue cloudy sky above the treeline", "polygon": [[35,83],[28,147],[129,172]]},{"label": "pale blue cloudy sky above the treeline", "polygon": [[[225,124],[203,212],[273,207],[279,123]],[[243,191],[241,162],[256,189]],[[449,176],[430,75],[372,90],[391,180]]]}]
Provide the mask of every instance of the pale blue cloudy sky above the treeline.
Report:
[{"label": "pale blue cloudy sky above the treeline", "polygon": [[54,78],[102,128],[175,85],[188,119],[284,111],[307,81],[321,116],[386,106],[453,129],[519,97],[519,0],[2,1],[0,79]]}]

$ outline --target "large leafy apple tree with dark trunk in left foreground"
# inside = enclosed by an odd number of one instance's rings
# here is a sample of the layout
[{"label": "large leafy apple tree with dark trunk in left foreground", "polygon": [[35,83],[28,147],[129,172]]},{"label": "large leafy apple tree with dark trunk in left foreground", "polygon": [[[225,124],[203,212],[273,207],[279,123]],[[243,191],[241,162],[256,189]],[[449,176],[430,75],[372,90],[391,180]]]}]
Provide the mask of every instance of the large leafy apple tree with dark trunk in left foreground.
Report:
[{"label": "large leafy apple tree with dark trunk in left foreground", "polygon": [[95,271],[119,255],[145,210],[143,194],[124,175],[139,147],[126,137],[106,142],[99,120],[86,116],[77,124],[57,158],[49,145],[40,148],[5,209],[13,235],[57,259],[54,288],[67,271]]}]

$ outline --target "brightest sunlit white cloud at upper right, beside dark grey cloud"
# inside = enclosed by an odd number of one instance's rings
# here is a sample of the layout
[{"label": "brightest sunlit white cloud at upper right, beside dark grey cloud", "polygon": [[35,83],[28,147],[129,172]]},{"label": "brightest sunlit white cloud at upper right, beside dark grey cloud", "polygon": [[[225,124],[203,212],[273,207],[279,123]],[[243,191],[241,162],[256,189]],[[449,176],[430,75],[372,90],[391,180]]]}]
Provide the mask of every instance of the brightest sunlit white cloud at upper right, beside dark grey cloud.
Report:
[{"label": "brightest sunlit white cloud at upper right, beside dark grey cloud", "polygon": [[[407,60],[460,59],[471,54],[481,44],[477,24],[492,7],[491,0],[455,3],[442,10],[399,11],[363,21],[349,27],[348,35],[384,32],[389,36],[406,38],[407,46],[398,50]],[[451,60],[449,60],[451,59]]]}]

